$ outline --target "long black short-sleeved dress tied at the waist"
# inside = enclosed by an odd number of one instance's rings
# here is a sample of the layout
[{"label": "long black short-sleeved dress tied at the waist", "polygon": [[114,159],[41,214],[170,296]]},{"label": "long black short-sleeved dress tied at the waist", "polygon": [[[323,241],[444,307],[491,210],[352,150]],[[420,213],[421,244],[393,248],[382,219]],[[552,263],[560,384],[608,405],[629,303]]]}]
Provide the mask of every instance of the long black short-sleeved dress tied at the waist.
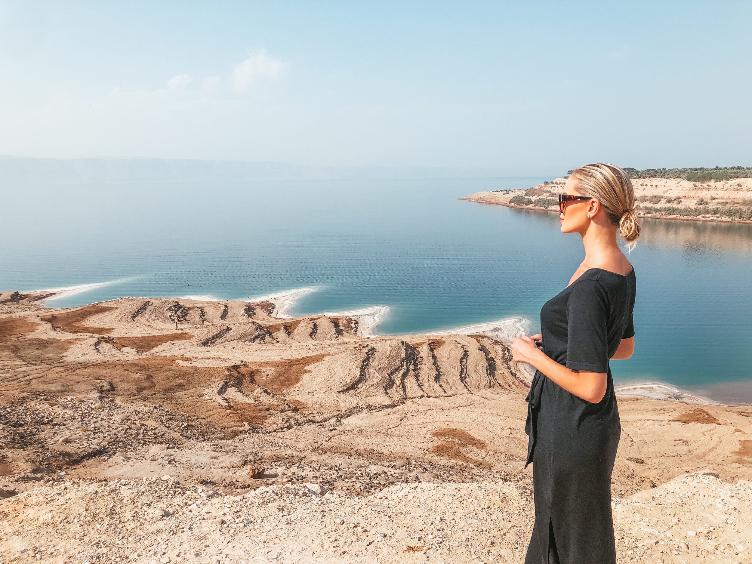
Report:
[{"label": "long black short-sleeved dress tied at the waist", "polygon": [[601,402],[535,371],[525,431],[535,459],[535,526],[525,564],[615,564],[611,472],[621,434],[608,359],[634,336],[635,271],[590,268],[541,308],[543,350],[572,370],[608,374]]}]

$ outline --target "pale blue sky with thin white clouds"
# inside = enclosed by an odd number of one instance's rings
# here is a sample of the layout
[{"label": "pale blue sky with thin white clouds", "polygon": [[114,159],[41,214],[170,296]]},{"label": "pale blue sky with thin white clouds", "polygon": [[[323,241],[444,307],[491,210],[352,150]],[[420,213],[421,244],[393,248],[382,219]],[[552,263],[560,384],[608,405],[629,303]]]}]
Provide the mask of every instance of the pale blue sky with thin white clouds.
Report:
[{"label": "pale blue sky with thin white clouds", "polygon": [[752,2],[0,0],[0,154],[752,165]]}]

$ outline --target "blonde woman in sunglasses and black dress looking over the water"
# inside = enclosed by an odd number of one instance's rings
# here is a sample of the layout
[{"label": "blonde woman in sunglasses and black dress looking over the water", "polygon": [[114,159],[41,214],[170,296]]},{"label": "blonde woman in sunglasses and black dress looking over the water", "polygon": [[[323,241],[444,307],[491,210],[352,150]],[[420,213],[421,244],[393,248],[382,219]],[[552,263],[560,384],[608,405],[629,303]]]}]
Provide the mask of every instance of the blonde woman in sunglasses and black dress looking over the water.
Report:
[{"label": "blonde woman in sunglasses and black dress looking over the water", "polygon": [[526,398],[526,466],[535,524],[525,564],[616,564],[611,472],[621,434],[610,359],[635,349],[635,271],[617,244],[640,235],[632,181],[604,163],[573,171],[559,194],[562,233],[585,259],[541,308],[541,334],[511,344],[535,368]]}]

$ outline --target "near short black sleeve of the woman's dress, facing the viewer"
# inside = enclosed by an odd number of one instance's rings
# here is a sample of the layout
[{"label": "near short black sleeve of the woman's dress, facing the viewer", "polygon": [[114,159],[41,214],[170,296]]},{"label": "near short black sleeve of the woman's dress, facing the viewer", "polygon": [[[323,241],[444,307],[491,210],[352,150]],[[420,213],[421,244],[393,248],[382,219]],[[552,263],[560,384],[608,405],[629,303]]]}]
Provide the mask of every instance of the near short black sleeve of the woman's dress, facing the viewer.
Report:
[{"label": "near short black sleeve of the woman's dress, facing the viewer", "polygon": [[566,314],[567,368],[608,372],[608,298],[602,285],[596,280],[575,282]]}]

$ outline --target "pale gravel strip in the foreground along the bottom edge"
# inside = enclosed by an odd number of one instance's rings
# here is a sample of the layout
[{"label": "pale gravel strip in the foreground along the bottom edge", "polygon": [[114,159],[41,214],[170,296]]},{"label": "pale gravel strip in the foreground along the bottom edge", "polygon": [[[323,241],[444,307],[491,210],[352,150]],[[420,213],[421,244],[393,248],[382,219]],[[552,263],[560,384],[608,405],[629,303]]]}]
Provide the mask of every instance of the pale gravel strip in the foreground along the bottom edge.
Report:
[{"label": "pale gravel strip in the foreground along the bottom edge", "polygon": [[[522,562],[532,527],[527,484],[314,490],[59,476],[0,501],[0,562]],[[750,482],[703,474],[614,499],[619,560],[752,562],[750,501]]]}]

